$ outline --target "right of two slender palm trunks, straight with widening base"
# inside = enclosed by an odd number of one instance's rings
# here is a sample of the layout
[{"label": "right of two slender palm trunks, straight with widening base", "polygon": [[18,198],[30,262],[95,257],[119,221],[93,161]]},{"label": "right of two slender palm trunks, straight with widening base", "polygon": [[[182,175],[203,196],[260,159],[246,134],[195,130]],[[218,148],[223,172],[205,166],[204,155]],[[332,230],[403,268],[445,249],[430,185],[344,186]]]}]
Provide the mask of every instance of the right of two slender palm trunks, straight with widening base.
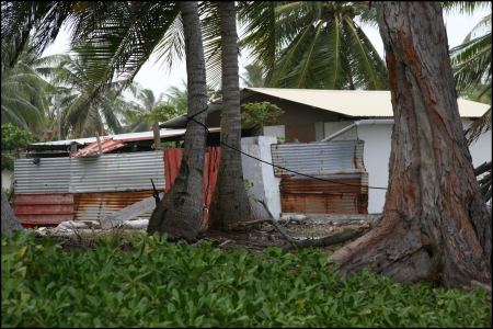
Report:
[{"label": "right of two slender palm trunks, straight with widening base", "polygon": [[[238,75],[238,35],[234,1],[219,2],[222,42],[221,144],[241,149],[240,87]],[[252,213],[243,183],[241,154],[221,147],[218,181],[210,208],[213,228],[229,229],[250,220]]]}]

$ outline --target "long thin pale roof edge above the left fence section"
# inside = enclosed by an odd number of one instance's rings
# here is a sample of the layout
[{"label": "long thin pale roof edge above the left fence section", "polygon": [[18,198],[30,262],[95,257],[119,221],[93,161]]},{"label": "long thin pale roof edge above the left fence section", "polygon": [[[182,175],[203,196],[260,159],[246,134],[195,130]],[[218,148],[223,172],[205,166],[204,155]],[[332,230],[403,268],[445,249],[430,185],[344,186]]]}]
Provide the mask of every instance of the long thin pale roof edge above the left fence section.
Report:
[{"label": "long thin pale roof edge above the left fence section", "polygon": [[[175,137],[185,135],[186,129],[160,129],[160,137]],[[220,132],[220,128],[209,128],[210,133]],[[152,140],[154,138],[152,131],[142,132],[142,133],[128,133],[128,134],[119,134],[119,135],[108,135],[102,136],[101,139],[113,138],[113,140],[122,140],[122,141],[136,141],[136,140]],[[77,143],[80,145],[91,144],[96,141],[95,137],[88,138],[77,138],[77,139],[65,139],[65,140],[54,140],[54,141],[44,141],[44,143],[33,143],[31,145],[70,145],[72,143]]]}]

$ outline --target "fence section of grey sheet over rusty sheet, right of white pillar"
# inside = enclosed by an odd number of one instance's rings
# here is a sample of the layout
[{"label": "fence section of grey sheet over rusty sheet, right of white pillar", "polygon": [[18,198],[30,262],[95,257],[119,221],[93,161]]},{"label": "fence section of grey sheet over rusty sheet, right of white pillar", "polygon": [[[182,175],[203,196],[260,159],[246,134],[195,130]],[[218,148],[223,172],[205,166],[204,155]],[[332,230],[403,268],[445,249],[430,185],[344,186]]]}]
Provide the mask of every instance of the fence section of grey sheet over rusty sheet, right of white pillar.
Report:
[{"label": "fence section of grey sheet over rusty sheet, right of white pillar", "polygon": [[274,164],[313,177],[274,168],[275,175],[282,178],[282,211],[367,214],[368,174],[363,149],[363,140],[272,145]]}]

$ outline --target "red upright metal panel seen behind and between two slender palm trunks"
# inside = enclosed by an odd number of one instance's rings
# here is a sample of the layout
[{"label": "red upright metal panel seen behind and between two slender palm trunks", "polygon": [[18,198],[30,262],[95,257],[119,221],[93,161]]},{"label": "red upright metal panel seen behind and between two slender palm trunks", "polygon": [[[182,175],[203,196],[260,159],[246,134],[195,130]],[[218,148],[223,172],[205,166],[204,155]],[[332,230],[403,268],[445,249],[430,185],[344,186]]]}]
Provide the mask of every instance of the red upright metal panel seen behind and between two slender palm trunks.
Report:
[{"label": "red upright metal panel seen behind and between two slender palm trunks", "polygon": [[[203,213],[202,225],[207,226],[209,217],[209,206],[213,200],[214,191],[216,189],[217,174],[219,171],[220,147],[207,147],[204,159],[204,185],[202,200],[205,204]],[[164,175],[165,175],[165,192],[170,191],[177,174],[180,173],[180,166],[182,161],[182,148],[168,148],[164,150]]]}]

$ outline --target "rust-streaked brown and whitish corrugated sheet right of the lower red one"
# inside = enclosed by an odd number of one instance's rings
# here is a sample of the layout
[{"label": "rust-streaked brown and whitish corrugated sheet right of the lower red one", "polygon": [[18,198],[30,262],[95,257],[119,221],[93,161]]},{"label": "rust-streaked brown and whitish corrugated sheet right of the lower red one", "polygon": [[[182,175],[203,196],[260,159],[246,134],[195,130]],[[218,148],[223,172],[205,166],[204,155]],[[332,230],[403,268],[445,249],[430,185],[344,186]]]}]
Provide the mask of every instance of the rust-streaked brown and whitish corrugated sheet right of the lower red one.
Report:
[{"label": "rust-streaked brown and whitish corrugated sheet right of the lower red one", "polygon": [[[160,190],[162,192],[162,190]],[[152,196],[152,190],[76,194],[76,220],[101,220],[136,202]],[[149,219],[151,213],[140,215]]]}]

